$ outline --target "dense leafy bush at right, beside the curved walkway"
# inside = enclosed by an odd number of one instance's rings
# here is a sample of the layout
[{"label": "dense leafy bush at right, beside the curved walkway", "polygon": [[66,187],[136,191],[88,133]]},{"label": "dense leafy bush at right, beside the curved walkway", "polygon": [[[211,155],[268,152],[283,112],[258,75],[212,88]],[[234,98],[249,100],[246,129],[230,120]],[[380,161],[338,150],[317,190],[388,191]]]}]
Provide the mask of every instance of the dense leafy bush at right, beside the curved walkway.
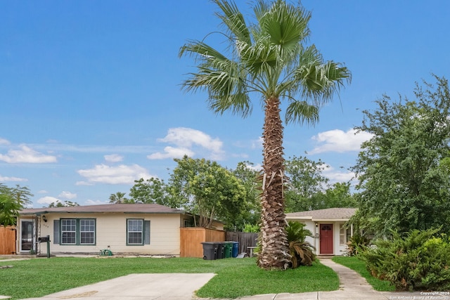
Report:
[{"label": "dense leafy bush at right, beside the curved walkway", "polygon": [[359,257],[371,274],[400,290],[449,290],[450,242],[438,229],[412,230],[404,238],[377,240]]}]

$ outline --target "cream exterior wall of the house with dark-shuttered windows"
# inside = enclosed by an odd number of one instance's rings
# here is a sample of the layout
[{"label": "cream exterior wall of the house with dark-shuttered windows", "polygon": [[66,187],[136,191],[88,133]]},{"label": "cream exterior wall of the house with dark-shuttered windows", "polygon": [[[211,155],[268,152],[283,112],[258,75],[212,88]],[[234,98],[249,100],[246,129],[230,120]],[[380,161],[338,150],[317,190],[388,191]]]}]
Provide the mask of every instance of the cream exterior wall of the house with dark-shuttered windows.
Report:
[{"label": "cream exterior wall of the house with dark-shuttered windows", "polygon": [[[110,246],[113,254],[174,255],[180,254],[180,214],[46,214],[39,221],[38,236],[50,235],[50,253],[98,254]],[[59,219],[96,219],[96,244],[53,244],[53,221]],[[127,219],[150,221],[150,244],[127,245]],[[37,253],[46,254],[46,242],[38,244]]]}]

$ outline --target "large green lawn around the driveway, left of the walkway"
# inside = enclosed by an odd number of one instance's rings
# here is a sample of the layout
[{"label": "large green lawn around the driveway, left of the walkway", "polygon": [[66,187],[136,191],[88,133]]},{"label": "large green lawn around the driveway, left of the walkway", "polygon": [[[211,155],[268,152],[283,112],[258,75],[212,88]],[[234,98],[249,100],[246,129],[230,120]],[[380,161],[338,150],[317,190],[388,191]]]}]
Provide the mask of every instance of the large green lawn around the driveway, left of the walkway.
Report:
[{"label": "large green lawn around the driveway, left of the walkway", "polygon": [[[4,263],[6,264],[6,262]],[[131,273],[217,273],[198,296],[229,298],[254,294],[333,291],[339,278],[314,263],[295,270],[260,270],[255,259],[51,258],[8,261],[0,269],[0,295],[31,298]],[[1,264],[0,264],[1,266]]]}]

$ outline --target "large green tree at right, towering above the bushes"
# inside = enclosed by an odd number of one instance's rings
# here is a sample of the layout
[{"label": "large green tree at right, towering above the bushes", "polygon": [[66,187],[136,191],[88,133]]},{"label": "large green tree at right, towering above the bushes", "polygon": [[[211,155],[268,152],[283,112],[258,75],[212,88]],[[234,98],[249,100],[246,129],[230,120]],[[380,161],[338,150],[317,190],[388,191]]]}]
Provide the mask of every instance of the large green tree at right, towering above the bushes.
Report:
[{"label": "large green tree at right, towering above the bushes", "polygon": [[361,190],[354,220],[378,235],[450,230],[450,91],[446,79],[435,79],[416,84],[416,100],[383,96],[356,127],[373,137],[353,168]]}]

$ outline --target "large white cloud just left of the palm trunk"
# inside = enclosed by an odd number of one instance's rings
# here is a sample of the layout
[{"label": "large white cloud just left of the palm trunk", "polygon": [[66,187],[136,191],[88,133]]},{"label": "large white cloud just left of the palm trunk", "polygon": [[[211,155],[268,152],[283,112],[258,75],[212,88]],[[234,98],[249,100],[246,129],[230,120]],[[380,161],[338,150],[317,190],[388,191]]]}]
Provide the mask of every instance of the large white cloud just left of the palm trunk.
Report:
[{"label": "large white cloud just left of the palm trunk", "polygon": [[183,155],[193,156],[195,151],[200,152],[207,150],[208,153],[205,157],[211,159],[220,160],[224,156],[224,150],[222,150],[223,143],[219,138],[211,138],[203,131],[199,131],[191,128],[171,128],[167,131],[165,138],[159,138],[161,143],[171,143],[175,147],[166,147],[164,152],[156,152],[148,155],[148,159],[167,159],[167,158],[180,158]]}]

